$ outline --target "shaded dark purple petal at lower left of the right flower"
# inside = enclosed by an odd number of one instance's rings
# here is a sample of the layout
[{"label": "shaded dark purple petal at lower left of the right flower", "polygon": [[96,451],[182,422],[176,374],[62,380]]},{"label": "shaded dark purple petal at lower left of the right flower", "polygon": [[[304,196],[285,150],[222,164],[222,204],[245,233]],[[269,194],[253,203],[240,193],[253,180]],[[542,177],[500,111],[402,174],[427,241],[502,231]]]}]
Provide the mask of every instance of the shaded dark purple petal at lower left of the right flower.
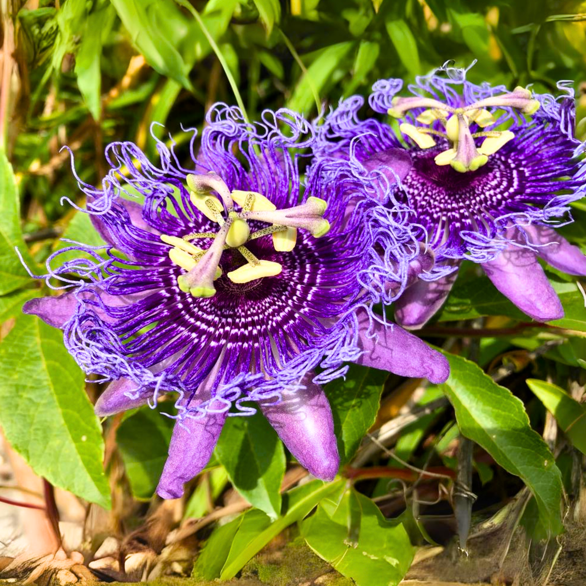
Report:
[{"label": "shaded dark purple petal at lower left of the right flower", "polygon": [[418,279],[395,302],[395,319],[404,328],[423,328],[444,304],[458,272],[437,281]]}]

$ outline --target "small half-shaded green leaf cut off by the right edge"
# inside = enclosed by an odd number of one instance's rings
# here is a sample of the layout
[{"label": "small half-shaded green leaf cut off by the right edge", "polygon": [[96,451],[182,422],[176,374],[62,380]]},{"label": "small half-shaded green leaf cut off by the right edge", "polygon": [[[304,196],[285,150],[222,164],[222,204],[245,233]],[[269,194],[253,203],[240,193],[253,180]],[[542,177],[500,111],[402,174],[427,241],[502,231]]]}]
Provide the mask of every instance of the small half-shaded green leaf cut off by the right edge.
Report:
[{"label": "small half-shaded green leaf cut off by the right edge", "polygon": [[556,418],[575,448],[586,454],[586,407],[564,389],[544,380],[527,379],[527,386]]}]

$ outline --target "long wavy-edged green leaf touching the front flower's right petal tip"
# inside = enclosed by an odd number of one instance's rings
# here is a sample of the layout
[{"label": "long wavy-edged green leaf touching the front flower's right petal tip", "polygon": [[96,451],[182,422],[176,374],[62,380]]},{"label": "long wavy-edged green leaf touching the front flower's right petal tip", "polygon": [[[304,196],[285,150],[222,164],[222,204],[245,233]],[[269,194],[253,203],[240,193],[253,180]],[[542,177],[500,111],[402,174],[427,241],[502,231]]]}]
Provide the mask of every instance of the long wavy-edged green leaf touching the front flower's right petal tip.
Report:
[{"label": "long wavy-edged green leaf touching the front flower's right petal tip", "polygon": [[537,500],[548,530],[561,532],[561,473],[546,442],[532,430],[522,401],[476,364],[443,353],[450,375],[442,389],[454,406],[460,431],[507,472],[520,476]]}]

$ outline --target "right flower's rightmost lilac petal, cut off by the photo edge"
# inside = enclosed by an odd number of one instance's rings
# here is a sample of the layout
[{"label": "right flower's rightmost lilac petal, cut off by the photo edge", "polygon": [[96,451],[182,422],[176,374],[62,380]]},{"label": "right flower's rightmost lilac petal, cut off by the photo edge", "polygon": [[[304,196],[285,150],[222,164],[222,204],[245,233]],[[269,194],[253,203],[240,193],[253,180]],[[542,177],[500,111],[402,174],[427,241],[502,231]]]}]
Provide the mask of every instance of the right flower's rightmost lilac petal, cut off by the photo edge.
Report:
[{"label": "right flower's rightmost lilac petal, cut off by the photo edge", "polygon": [[[553,228],[547,226],[523,226],[532,244],[540,244],[536,254],[546,263],[570,275],[586,276],[586,256],[577,246],[570,244]],[[550,244],[551,243],[551,244]],[[543,246],[543,245],[546,246]]]}]

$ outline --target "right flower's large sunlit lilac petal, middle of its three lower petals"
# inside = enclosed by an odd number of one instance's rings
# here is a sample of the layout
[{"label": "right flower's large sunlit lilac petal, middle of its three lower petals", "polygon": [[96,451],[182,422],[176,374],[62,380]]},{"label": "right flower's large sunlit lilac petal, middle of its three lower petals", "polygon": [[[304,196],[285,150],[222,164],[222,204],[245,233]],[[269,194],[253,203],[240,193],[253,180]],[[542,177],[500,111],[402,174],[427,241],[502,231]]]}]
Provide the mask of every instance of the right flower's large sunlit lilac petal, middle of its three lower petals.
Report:
[{"label": "right flower's large sunlit lilac petal, middle of its three lower petals", "polygon": [[560,299],[532,251],[508,244],[482,268],[505,297],[536,321],[563,318]]}]

